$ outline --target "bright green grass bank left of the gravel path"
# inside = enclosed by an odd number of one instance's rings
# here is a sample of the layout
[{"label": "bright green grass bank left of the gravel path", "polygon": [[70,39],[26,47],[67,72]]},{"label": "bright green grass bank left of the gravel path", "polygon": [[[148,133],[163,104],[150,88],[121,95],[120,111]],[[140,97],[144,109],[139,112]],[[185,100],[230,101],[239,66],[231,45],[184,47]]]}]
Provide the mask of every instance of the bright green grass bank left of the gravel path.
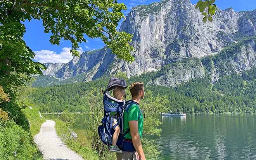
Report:
[{"label": "bright green grass bank left of the gravel path", "polygon": [[26,107],[21,112],[29,120],[30,130],[22,128],[11,118],[0,119],[0,160],[43,160],[33,136],[40,131],[45,119],[40,118],[35,107]]}]

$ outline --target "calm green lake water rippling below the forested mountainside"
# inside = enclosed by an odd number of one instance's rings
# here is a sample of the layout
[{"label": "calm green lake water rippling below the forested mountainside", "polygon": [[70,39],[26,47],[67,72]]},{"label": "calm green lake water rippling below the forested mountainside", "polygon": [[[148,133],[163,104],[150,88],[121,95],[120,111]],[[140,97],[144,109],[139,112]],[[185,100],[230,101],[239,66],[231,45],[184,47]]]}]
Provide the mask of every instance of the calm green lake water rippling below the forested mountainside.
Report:
[{"label": "calm green lake water rippling below the forested mountainside", "polygon": [[[159,145],[161,160],[256,159],[256,114],[158,116],[163,122],[161,136],[145,137]],[[83,124],[88,114],[77,117]],[[75,131],[84,136],[84,129],[78,126]]]}]

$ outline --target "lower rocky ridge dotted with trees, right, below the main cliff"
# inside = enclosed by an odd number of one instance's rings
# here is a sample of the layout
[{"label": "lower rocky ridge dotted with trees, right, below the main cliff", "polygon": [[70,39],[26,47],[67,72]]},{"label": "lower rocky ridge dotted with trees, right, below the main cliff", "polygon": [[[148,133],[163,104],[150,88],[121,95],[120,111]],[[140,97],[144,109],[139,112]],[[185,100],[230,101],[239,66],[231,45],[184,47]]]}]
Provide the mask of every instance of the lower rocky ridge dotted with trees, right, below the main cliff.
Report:
[{"label": "lower rocky ridge dotted with trees, right, below the main cliff", "polygon": [[221,50],[214,56],[187,58],[171,65],[166,65],[156,75],[152,76],[149,84],[175,87],[194,78],[208,76],[211,83],[220,77],[232,73],[241,74],[243,71],[256,67],[256,36],[247,38],[237,44]]}]

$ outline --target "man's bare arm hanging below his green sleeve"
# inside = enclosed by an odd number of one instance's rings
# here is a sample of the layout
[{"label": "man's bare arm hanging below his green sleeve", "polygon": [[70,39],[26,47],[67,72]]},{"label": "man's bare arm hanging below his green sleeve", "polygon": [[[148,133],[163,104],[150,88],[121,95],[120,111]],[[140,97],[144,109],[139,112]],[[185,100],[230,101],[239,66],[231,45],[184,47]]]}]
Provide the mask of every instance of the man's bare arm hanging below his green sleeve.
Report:
[{"label": "man's bare arm hanging below his green sleeve", "polygon": [[135,150],[138,152],[140,160],[146,160],[144,152],[142,150],[140,135],[138,134],[138,121],[137,120],[129,121],[129,127],[131,132],[131,140]]}]

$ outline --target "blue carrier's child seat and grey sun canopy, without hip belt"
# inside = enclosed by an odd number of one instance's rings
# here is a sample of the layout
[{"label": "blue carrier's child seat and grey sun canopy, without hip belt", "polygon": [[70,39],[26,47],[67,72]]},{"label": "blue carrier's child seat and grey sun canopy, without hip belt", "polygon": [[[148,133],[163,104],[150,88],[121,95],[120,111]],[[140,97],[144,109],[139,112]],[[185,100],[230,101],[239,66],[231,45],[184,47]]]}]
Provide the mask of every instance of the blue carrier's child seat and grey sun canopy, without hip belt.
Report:
[{"label": "blue carrier's child seat and grey sun canopy, without hip belt", "polygon": [[[112,136],[116,126],[120,126],[119,135],[123,134],[123,111],[125,107],[125,100],[121,101],[109,95],[109,91],[114,89],[116,86],[127,88],[126,82],[123,79],[111,77],[106,90],[103,93],[103,105],[104,105],[104,117],[101,120],[101,125],[98,127],[98,133],[102,142],[109,148],[112,145]],[[118,116],[118,123],[112,126],[111,112],[116,112]]]}]

